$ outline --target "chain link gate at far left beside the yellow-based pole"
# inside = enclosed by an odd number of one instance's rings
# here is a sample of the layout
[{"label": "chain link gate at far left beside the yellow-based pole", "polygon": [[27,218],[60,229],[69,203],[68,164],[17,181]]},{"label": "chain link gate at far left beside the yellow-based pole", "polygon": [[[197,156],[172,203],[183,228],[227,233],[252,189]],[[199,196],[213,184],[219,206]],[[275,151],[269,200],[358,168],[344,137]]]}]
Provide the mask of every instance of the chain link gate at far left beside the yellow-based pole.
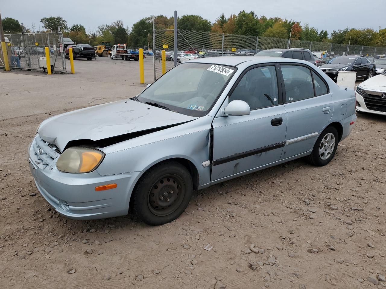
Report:
[{"label": "chain link gate at far left beside the yellow-based pole", "polygon": [[7,55],[11,69],[45,71],[46,60],[41,57],[46,57],[45,47],[49,47],[51,71],[67,71],[62,33],[5,34],[5,37],[9,40]]}]

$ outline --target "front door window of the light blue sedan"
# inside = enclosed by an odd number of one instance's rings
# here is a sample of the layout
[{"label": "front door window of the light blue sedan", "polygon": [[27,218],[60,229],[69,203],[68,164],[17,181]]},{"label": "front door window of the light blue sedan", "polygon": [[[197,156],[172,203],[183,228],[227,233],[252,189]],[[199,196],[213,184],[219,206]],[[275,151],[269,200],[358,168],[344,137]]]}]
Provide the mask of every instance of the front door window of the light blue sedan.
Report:
[{"label": "front door window of the light blue sedan", "polygon": [[251,110],[278,104],[278,80],[274,66],[253,68],[244,74],[229,102],[240,99],[247,102]]}]

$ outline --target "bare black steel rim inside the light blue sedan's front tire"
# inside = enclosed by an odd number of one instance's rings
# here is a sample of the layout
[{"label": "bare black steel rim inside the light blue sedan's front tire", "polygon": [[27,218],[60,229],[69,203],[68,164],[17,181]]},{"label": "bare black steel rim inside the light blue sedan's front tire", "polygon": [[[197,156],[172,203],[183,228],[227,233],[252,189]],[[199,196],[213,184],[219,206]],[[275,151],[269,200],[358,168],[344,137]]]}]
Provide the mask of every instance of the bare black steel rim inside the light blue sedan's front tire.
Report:
[{"label": "bare black steel rim inside the light blue sedan's front tire", "polygon": [[156,216],[173,213],[182,203],[185,183],[178,175],[165,175],[156,181],[148,196],[148,207]]}]

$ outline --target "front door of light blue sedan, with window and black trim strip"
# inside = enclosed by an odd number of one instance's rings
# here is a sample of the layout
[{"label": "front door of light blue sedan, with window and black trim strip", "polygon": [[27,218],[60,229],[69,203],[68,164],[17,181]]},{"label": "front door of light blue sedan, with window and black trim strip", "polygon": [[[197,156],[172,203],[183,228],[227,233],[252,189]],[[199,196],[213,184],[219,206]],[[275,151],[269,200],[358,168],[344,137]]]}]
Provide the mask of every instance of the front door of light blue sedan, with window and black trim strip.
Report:
[{"label": "front door of light blue sedan, with window and black trim strip", "polygon": [[254,66],[244,72],[230,92],[229,102],[236,99],[247,102],[251,114],[213,119],[211,181],[280,160],[287,114],[275,65]]}]

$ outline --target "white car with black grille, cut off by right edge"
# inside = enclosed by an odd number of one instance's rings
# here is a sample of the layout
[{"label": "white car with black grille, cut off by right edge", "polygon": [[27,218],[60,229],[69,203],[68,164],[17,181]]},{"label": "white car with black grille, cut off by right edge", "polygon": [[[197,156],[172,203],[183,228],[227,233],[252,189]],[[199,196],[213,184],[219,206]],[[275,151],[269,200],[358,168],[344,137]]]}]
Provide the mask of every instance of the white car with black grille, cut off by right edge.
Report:
[{"label": "white car with black grille, cut off by right edge", "polygon": [[386,69],[379,69],[377,74],[357,86],[356,111],[386,116]]}]

